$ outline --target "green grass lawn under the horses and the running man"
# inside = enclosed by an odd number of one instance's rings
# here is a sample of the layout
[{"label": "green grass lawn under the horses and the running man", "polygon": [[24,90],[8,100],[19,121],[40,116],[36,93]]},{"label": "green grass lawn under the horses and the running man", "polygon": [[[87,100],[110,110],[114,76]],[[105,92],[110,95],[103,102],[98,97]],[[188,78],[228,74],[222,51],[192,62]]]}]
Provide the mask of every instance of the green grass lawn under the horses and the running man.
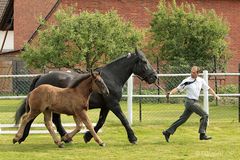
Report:
[{"label": "green grass lawn under the horses and the running man", "polygon": [[[20,104],[18,100],[0,101],[0,123],[11,123],[14,112]],[[126,103],[122,103],[126,113]],[[49,134],[29,135],[21,145],[12,144],[14,135],[0,135],[0,159],[32,160],[32,159],[239,159],[240,156],[240,124],[238,123],[237,106],[211,106],[208,134],[210,141],[198,140],[199,117],[192,115],[190,119],[166,143],[161,132],[175,121],[182,113],[182,104],[143,104],[142,122],[139,122],[138,104],[134,104],[133,129],[138,137],[138,144],[132,145],[120,121],[110,112],[99,133],[107,144],[99,147],[94,141],[85,144],[82,134],[74,137],[72,144],[59,149]],[[98,119],[99,110],[90,110],[93,122]],[[42,116],[36,119],[42,122]],[[70,116],[63,117],[64,122],[73,122]]]}]

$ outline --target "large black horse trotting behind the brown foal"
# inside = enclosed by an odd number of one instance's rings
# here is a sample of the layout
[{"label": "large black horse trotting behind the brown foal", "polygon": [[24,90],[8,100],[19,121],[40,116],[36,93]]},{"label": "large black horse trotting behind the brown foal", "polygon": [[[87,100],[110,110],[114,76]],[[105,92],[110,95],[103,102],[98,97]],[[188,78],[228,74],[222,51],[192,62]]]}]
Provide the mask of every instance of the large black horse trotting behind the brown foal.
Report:
[{"label": "large black horse trotting behind the brown foal", "polygon": [[[132,73],[137,75],[141,80],[146,81],[147,83],[151,84],[154,83],[157,79],[157,74],[146,59],[143,52],[135,50],[135,53],[129,53],[126,56],[123,56],[102,68],[96,69],[97,71],[101,72],[101,77],[103,78],[104,82],[106,83],[110,94],[108,96],[101,95],[98,93],[93,93],[90,97],[89,101],[89,109],[100,108],[100,115],[99,120],[95,126],[95,131],[98,130],[103,126],[106,117],[111,110],[122,122],[124,125],[128,139],[131,143],[137,143],[137,137],[134,135],[132,128],[130,127],[128,120],[126,119],[124,113],[121,110],[119,101],[122,98],[122,88],[123,85],[126,83],[128,78]],[[42,76],[36,77],[31,86],[30,91],[36,88],[41,84],[51,84],[57,87],[65,88],[67,87],[73,79],[78,78],[82,74],[76,72],[51,72]],[[15,120],[16,124],[19,123],[20,117],[22,114],[25,113],[25,105],[26,100],[24,100],[23,104],[18,108]],[[20,142],[24,141],[29,134],[29,129],[31,124],[34,120],[29,122],[25,127],[23,137],[20,139]],[[56,125],[57,131],[63,137],[66,133],[64,130],[61,119],[59,114],[53,114],[53,123]],[[65,136],[66,137],[66,136]],[[86,132],[84,135],[84,141],[87,143],[91,140],[92,135],[90,132]],[[71,141],[71,139],[64,139],[65,142]]]}]

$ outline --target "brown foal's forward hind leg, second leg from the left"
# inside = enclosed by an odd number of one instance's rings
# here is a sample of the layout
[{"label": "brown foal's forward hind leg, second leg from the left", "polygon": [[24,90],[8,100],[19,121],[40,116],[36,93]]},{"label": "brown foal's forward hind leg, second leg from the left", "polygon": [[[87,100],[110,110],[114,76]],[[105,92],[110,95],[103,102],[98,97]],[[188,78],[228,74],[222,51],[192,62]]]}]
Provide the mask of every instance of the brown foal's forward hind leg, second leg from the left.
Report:
[{"label": "brown foal's forward hind leg, second leg from the left", "polygon": [[51,134],[53,141],[56,145],[58,145],[59,148],[63,148],[64,145],[61,142],[61,140],[57,137],[57,134],[55,133],[54,129],[53,129],[53,125],[52,125],[52,112],[49,110],[46,110],[43,112],[44,114],[44,123],[45,126],[47,127],[49,133]]}]

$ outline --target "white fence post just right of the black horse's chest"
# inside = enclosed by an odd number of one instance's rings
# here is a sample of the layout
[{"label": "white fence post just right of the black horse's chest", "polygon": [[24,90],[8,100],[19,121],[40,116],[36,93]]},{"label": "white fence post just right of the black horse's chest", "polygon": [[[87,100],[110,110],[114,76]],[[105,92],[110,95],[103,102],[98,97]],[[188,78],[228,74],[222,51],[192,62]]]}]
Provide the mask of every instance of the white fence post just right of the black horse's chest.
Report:
[{"label": "white fence post just right of the black horse's chest", "polygon": [[127,98],[127,105],[128,105],[128,122],[132,125],[132,95],[133,95],[133,76],[131,75],[128,79],[128,98]]}]

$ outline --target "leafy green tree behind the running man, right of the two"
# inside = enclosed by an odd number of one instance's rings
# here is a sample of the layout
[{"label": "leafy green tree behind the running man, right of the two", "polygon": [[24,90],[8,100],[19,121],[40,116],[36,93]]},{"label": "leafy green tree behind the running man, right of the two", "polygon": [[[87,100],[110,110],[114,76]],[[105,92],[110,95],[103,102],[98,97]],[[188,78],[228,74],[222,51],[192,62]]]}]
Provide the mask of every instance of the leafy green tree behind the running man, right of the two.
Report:
[{"label": "leafy green tree behind the running man, right of the two", "polygon": [[229,27],[214,10],[197,11],[192,4],[178,6],[175,0],[161,0],[152,16],[151,45],[166,62],[168,71],[198,65],[211,72],[214,59],[217,69],[224,70],[230,57],[225,40]]}]

